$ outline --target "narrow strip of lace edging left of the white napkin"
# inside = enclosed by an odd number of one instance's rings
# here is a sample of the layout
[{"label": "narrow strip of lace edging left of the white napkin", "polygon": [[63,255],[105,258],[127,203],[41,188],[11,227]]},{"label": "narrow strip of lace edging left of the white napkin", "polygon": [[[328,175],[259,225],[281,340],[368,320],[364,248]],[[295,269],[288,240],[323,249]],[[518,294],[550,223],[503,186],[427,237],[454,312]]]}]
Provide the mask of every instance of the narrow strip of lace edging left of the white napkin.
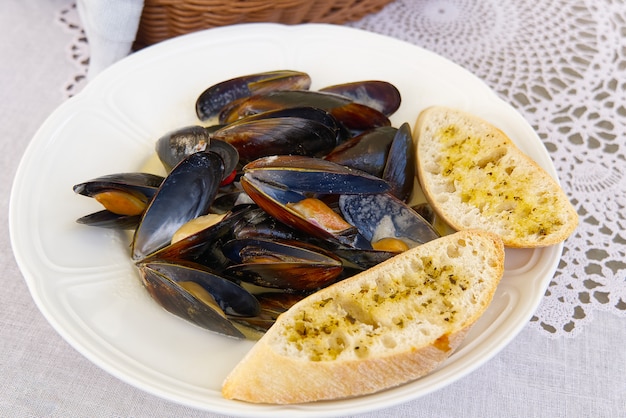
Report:
[{"label": "narrow strip of lace edging left of the white napkin", "polygon": [[82,90],[87,84],[87,69],[89,67],[89,44],[83,30],[76,3],[68,3],[61,8],[55,17],[55,21],[63,30],[72,35],[72,41],[67,48],[68,59],[74,64],[76,72],[62,90],[64,97],[72,97]]}]

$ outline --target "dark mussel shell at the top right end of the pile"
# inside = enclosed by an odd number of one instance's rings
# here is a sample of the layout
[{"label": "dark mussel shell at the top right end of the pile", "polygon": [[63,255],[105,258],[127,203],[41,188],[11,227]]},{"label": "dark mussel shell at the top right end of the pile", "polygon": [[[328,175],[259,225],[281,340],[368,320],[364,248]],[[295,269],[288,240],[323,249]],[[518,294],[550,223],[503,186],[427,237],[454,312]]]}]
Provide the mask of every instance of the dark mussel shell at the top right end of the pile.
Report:
[{"label": "dark mussel shell at the top right end of the pile", "polygon": [[320,89],[321,92],[340,94],[356,103],[376,109],[386,116],[392,115],[402,101],[400,91],[387,81],[365,80],[336,84]]}]

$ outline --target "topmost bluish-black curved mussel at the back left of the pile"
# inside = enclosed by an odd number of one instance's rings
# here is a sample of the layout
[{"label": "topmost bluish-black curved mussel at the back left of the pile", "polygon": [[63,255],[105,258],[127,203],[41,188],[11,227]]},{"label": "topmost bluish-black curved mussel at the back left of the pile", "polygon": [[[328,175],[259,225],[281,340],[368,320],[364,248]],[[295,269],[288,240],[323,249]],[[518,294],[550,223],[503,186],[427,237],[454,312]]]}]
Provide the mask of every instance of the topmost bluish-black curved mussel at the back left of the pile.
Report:
[{"label": "topmost bluish-black curved mussel at the back left of the pile", "polygon": [[232,78],[203,91],[196,101],[196,114],[200,120],[211,119],[234,100],[275,90],[306,90],[310,85],[311,77],[308,74],[292,70],[268,71]]}]

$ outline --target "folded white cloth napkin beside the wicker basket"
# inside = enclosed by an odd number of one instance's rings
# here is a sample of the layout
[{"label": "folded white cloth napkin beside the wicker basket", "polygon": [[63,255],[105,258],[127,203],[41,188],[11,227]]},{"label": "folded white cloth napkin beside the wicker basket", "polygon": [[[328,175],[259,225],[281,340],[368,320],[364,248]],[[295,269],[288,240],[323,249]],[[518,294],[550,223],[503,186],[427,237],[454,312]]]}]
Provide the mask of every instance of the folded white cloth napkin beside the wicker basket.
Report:
[{"label": "folded white cloth napkin beside the wicker basket", "polygon": [[131,51],[144,0],[78,0],[76,6],[89,43],[92,80]]}]

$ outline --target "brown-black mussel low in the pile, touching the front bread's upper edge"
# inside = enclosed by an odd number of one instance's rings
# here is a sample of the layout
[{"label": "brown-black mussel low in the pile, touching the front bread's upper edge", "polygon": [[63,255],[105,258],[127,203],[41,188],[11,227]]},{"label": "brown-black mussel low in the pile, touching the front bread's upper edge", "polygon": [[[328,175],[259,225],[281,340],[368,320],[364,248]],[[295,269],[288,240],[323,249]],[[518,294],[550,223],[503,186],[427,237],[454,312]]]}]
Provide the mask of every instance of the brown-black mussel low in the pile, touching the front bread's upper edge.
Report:
[{"label": "brown-black mussel low in the pile, touching the front bread's upper edge", "polygon": [[314,290],[334,282],[343,271],[339,259],[301,242],[237,239],[223,250],[235,263],[225,274],[263,287]]}]

